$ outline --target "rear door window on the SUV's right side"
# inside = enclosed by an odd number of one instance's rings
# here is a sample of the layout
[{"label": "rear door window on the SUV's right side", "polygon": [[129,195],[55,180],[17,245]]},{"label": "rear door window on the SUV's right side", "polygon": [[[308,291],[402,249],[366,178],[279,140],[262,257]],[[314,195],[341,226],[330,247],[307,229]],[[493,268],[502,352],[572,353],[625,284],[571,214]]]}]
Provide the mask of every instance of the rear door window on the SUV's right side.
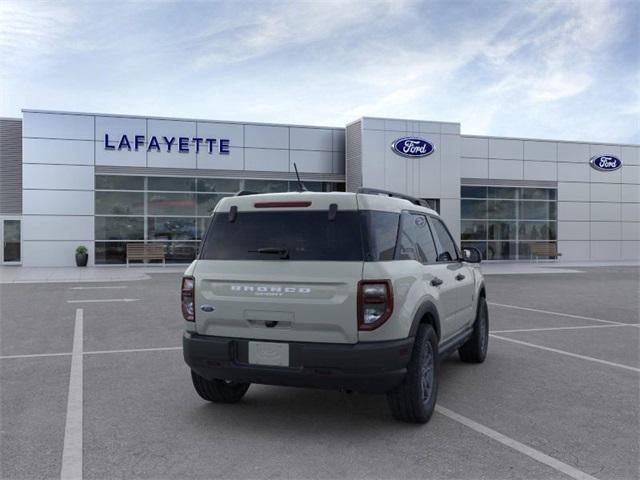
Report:
[{"label": "rear door window on the SUV's right side", "polygon": [[435,262],[436,246],[426,216],[409,212],[402,214],[396,258],[420,263]]}]

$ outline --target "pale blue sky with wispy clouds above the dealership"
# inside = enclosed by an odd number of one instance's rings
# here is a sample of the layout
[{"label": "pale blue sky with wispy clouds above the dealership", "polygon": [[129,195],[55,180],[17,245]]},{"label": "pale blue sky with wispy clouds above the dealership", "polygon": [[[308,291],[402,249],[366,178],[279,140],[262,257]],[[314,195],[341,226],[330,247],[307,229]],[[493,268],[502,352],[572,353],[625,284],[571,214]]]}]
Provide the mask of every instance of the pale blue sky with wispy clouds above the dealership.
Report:
[{"label": "pale blue sky with wispy clouds above the dealership", "polygon": [[0,2],[22,108],[640,143],[640,1]]}]

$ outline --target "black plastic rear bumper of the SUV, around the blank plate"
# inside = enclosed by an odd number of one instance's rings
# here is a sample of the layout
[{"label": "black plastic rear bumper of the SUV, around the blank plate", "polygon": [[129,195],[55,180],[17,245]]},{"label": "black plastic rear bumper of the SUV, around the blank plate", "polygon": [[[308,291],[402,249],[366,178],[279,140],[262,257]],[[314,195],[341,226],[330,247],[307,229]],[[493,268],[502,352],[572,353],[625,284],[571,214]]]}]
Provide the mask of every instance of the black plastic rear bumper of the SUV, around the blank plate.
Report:
[{"label": "black plastic rear bumper of the SUV, around the blank plate", "polygon": [[250,365],[249,340],[185,332],[184,360],[201,377],[382,393],[406,374],[413,338],[354,345],[289,342],[290,367]]}]

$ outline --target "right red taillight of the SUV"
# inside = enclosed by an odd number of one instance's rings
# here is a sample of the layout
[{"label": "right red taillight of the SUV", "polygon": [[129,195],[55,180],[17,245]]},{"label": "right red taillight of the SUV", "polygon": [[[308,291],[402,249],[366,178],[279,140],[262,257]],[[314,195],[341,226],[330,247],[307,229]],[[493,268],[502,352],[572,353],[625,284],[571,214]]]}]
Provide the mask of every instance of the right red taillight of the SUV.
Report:
[{"label": "right red taillight of the SUV", "polygon": [[393,313],[393,289],[389,280],[358,282],[358,330],[375,330]]}]

